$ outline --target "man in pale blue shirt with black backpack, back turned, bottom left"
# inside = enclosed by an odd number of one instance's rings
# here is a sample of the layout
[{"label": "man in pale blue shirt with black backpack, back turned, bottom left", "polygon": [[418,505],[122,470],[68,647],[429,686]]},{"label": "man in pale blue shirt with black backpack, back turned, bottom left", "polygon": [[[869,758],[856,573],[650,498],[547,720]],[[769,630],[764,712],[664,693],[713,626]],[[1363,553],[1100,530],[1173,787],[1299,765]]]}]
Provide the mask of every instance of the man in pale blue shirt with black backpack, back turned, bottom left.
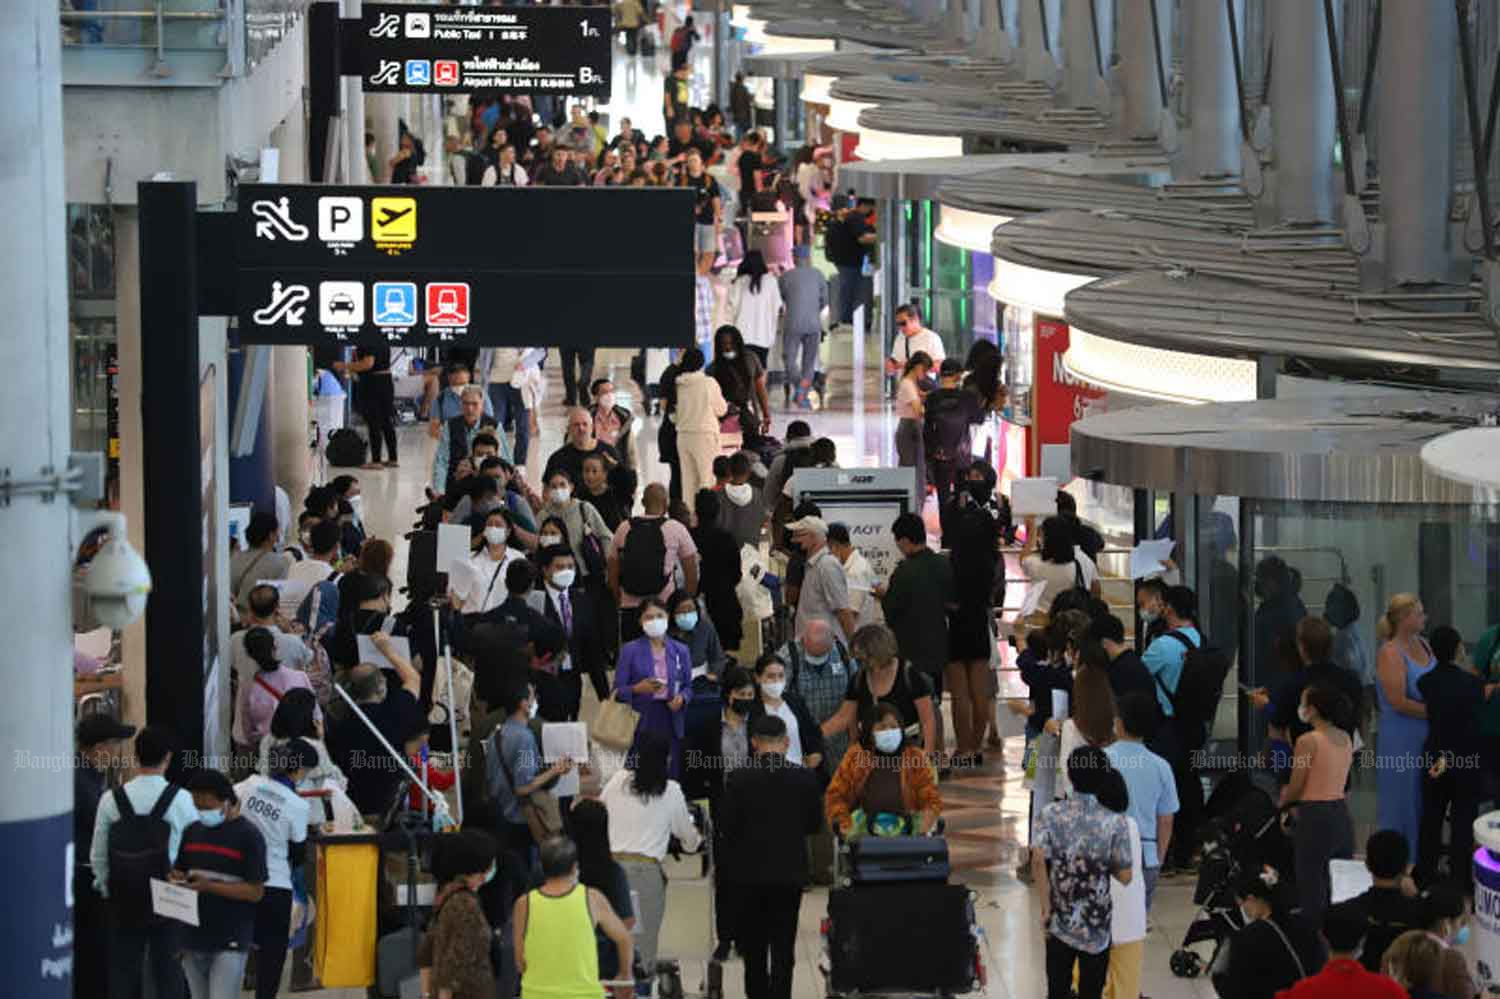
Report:
[{"label": "man in pale blue shirt with black backpack, back turned, bottom left", "polygon": [[[166,783],[166,766],[172,760],[172,736],[165,729],[147,726],[135,736],[135,777],[128,780],[116,794],[123,794],[126,801],[140,819],[150,820],[153,808],[159,801],[166,801],[160,814],[160,822],[166,824],[166,856],[160,876],[165,876],[177,861],[177,848],[182,844],[183,830],[198,820],[198,807],[192,795],[177,784]],[[99,800],[99,812],[94,816],[94,836],[88,849],[88,862],[93,866],[94,890],[110,898],[110,830],[120,822],[120,802],[116,794],[108,794]],[[117,872],[117,874],[122,874]],[[141,885],[117,885],[123,888],[141,888]],[[150,888],[146,886],[148,892]],[[134,994],[141,981],[141,969],[150,954],[150,974],[156,984],[156,994],[165,999],[177,999],[182,994],[182,966],[177,963],[180,948],[182,924],[171,920],[154,918],[150,912],[150,896],[146,902],[140,892],[130,892],[132,898],[110,898],[110,994]]]}]

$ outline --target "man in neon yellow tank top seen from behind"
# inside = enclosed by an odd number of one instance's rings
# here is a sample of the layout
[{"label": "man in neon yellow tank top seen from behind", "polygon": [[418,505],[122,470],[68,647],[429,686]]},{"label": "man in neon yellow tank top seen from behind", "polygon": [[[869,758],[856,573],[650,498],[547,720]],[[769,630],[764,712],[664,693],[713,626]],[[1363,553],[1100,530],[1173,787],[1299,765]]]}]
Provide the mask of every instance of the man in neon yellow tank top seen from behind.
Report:
[{"label": "man in neon yellow tank top seen from behind", "polygon": [[[630,930],[609,900],[578,882],[578,848],[556,836],[542,844],[542,886],[516,898],[516,968],[520,999],[598,999],[598,950],[594,927],[620,951],[620,968],[632,968]],[[634,986],[615,986],[615,999],[630,999]]]}]

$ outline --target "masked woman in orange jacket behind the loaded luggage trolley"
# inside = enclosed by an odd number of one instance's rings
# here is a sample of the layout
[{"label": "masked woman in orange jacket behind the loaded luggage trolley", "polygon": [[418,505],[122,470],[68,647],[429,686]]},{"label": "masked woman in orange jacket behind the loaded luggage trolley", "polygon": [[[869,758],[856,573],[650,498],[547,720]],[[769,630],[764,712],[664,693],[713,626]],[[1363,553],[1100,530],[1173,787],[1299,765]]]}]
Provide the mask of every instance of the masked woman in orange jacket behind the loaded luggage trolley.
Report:
[{"label": "masked woman in orange jacket behind the loaded luggage trolley", "polygon": [[824,795],[828,825],[844,838],[885,814],[910,819],[910,834],[926,836],[942,814],[938,777],[922,748],[906,741],[902,711],[882,700],[874,724],[844,753]]}]

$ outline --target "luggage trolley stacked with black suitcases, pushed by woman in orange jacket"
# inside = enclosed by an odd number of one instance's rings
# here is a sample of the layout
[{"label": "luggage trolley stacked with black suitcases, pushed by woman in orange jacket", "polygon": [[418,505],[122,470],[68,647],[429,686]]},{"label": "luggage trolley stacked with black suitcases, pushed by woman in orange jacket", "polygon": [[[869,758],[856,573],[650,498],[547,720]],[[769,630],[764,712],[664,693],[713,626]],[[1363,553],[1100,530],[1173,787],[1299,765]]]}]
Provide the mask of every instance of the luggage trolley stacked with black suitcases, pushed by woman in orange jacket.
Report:
[{"label": "luggage trolley stacked with black suitcases, pushed by woman in orange jacket", "polygon": [[948,884],[948,842],[938,832],[838,837],[819,960],[828,999],[984,992],[975,894]]}]

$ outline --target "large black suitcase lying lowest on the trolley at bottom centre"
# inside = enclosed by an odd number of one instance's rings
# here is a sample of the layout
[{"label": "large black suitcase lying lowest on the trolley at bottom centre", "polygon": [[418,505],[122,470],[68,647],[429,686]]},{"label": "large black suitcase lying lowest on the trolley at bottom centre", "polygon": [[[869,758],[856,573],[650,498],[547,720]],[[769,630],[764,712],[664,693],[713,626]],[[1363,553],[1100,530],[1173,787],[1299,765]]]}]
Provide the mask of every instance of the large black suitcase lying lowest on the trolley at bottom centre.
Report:
[{"label": "large black suitcase lying lowest on the trolley at bottom centre", "polygon": [[964,993],[978,987],[974,902],[963,885],[868,885],[828,894],[830,992]]}]

